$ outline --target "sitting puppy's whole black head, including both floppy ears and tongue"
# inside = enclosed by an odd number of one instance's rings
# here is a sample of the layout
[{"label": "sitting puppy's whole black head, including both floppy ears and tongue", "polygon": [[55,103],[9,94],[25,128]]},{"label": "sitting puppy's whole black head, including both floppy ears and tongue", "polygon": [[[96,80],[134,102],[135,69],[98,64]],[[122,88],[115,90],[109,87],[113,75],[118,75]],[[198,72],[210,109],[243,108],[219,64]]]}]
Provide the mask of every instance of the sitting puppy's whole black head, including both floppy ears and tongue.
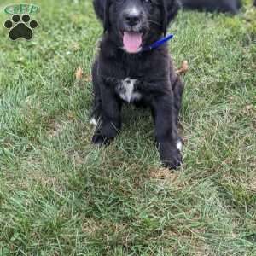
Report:
[{"label": "sitting puppy's whole black head, including both floppy ears and tongue", "polygon": [[96,15],[105,32],[126,52],[137,53],[166,34],[177,15],[177,0],[94,0]]}]

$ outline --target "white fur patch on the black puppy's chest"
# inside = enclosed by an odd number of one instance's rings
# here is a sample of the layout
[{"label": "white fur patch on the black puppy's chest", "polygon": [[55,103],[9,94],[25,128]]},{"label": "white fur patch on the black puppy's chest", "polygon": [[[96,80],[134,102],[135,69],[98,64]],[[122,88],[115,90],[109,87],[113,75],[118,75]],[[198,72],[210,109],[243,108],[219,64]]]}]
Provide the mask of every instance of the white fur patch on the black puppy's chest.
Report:
[{"label": "white fur patch on the black puppy's chest", "polygon": [[136,84],[137,79],[125,79],[121,82],[120,88],[119,88],[119,96],[121,99],[123,99],[125,102],[134,102],[136,100],[140,100],[142,98],[142,95],[134,91],[134,84]]}]

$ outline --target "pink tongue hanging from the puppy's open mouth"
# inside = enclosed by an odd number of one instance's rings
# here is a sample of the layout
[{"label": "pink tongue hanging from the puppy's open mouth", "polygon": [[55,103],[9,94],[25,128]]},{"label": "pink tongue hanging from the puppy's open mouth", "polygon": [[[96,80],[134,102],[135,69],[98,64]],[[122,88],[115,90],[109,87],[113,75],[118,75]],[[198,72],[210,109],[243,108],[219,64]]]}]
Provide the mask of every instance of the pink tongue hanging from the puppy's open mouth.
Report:
[{"label": "pink tongue hanging from the puppy's open mouth", "polygon": [[143,43],[143,36],[138,32],[124,32],[124,48],[129,53],[137,53]]}]

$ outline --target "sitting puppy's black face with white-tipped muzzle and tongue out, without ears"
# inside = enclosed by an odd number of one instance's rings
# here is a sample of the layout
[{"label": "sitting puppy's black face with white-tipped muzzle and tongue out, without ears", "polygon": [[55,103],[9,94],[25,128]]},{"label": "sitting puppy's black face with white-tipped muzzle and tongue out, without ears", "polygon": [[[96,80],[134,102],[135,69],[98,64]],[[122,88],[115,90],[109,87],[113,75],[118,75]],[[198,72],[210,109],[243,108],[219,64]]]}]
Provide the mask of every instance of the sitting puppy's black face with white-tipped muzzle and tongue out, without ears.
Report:
[{"label": "sitting puppy's black face with white-tipped muzzle and tongue out, without ears", "polygon": [[119,33],[119,41],[128,53],[137,53],[148,40],[149,32],[159,35],[163,29],[158,0],[117,0],[110,26]]}]

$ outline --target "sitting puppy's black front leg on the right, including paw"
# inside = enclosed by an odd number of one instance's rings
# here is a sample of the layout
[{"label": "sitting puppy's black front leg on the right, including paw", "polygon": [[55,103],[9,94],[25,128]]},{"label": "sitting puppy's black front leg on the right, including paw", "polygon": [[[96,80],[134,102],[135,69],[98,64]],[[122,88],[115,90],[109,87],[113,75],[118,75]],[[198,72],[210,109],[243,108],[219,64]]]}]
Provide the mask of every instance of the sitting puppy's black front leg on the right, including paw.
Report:
[{"label": "sitting puppy's black front leg on the right, including paw", "polygon": [[155,138],[160,148],[160,159],[164,166],[177,169],[182,163],[182,155],[177,148],[177,125],[173,115],[172,93],[154,96],[152,110],[154,114]]}]

